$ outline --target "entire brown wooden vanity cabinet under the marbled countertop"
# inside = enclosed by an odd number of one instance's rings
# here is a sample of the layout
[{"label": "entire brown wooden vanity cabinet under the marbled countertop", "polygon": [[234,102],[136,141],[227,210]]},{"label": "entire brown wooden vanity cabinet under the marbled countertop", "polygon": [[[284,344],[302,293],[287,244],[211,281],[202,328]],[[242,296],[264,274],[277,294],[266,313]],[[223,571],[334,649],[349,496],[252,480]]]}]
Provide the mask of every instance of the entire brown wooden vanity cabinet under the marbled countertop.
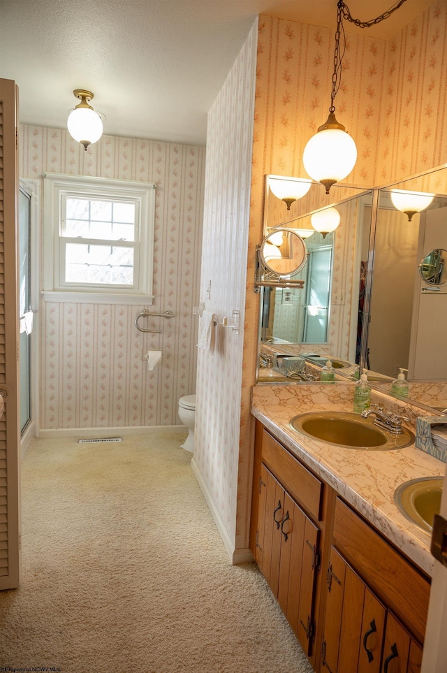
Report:
[{"label": "entire brown wooden vanity cabinet under the marbled countertop", "polygon": [[430,578],[256,421],[250,549],[318,673],[419,673]]}]

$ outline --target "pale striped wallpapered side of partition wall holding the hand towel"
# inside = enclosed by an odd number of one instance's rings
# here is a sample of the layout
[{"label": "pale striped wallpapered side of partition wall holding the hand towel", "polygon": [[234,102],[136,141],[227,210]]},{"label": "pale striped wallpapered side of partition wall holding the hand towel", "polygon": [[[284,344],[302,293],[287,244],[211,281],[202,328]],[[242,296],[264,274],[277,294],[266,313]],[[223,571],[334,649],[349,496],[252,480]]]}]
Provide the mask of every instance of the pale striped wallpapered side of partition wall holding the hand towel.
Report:
[{"label": "pale striped wallpapered side of partition wall holding the hand towel", "polygon": [[[247,547],[252,472],[240,423],[247,425],[249,411],[244,402],[241,414],[241,391],[247,391],[248,384],[242,382],[242,355],[247,347],[244,303],[255,61],[256,26],[208,115],[200,301],[218,317],[240,311],[241,328],[237,333],[217,326],[210,349],[199,349],[193,456],[229,544],[236,549]],[[236,521],[242,521],[242,532],[236,530]]]}]

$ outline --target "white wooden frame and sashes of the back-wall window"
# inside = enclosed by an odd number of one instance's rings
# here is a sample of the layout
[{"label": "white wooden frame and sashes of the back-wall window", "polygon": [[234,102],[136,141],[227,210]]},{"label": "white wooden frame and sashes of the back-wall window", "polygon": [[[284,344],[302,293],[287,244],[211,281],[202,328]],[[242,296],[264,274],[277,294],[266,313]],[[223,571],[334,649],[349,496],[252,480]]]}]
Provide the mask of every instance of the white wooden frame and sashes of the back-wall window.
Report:
[{"label": "white wooden frame and sashes of the back-wall window", "polygon": [[[84,303],[152,304],[154,273],[154,182],[107,180],[87,176],[43,174],[43,297],[45,301]],[[66,283],[64,281],[64,249],[62,208],[66,196],[81,198],[120,199],[135,203],[134,286],[110,287],[98,284]],[[84,243],[93,240],[82,239]],[[94,241],[96,243],[96,240]]]}]

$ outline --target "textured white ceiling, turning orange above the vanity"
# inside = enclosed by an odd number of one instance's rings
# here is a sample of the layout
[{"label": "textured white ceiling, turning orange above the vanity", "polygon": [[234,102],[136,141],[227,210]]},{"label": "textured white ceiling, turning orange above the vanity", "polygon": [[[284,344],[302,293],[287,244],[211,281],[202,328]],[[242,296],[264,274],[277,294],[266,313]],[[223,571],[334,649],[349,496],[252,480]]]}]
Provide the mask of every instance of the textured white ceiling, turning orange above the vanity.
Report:
[{"label": "textured white ceiling, turning orange above the vanity", "polygon": [[[406,0],[368,34],[389,38],[433,1]],[[347,4],[369,20],[392,2]],[[335,31],[337,0],[0,0],[0,77],[19,85],[24,124],[64,127],[82,88],[105,133],[204,145],[207,110],[258,13]]]}]

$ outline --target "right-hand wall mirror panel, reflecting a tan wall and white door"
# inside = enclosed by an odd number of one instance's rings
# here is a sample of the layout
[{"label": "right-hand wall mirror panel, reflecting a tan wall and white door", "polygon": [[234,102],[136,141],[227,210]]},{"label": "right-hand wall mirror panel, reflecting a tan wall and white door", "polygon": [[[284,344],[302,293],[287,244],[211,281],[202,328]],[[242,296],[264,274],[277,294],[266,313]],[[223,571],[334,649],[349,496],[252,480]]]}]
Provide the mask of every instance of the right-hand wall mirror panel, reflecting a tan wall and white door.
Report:
[{"label": "right-hand wall mirror panel, reflecting a tan wall and white door", "polygon": [[[396,210],[397,187],[427,194],[411,217]],[[434,169],[379,190],[375,222],[367,367],[390,381],[408,370],[409,398],[435,410],[447,407],[447,169]],[[422,259],[422,262],[420,260]],[[374,382],[376,383],[376,382]]]}]

